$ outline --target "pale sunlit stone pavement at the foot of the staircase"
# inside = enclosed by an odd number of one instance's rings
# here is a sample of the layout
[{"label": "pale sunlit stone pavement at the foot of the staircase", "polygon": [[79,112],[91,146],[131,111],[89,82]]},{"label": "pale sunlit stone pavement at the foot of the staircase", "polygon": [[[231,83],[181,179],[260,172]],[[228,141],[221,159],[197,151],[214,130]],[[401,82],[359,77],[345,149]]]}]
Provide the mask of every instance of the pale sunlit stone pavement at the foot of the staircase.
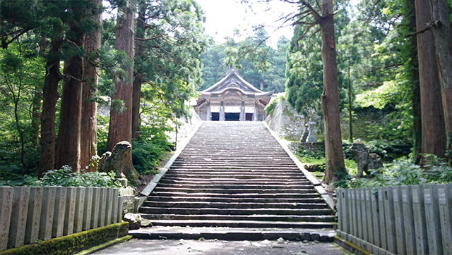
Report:
[{"label": "pale sunlit stone pavement at the foot of the staircase", "polygon": [[128,255],[352,255],[331,242],[130,240],[95,254]]}]

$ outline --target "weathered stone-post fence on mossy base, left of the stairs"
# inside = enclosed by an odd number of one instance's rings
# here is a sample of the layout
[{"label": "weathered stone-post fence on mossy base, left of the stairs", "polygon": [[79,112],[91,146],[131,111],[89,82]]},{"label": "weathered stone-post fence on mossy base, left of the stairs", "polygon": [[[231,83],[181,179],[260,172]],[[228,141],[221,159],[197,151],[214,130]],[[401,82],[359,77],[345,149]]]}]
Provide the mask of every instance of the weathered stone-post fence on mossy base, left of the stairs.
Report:
[{"label": "weathered stone-post fence on mossy base, left of the stairs", "polygon": [[0,187],[0,251],[122,220],[119,189]]}]

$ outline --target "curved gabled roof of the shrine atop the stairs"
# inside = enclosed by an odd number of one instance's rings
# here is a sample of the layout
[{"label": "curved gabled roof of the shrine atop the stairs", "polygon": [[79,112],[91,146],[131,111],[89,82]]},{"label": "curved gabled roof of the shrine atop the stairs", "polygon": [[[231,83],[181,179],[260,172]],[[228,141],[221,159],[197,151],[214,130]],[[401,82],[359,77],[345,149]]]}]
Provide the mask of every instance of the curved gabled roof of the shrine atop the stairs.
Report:
[{"label": "curved gabled roof of the shrine atop the stairs", "polygon": [[273,91],[263,92],[256,89],[256,87],[249,84],[249,82],[246,82],[246,80],[244,80],[244,78],[242,78],[234,69],[229,70],[226,76],[215,83],[215,85],[198,92],[198,94],[200,97],[210,97],[213,95],[225,94],[225,92],[229,90],[235,90],[246,96],[254,97],[270,97],[273,94]]}]

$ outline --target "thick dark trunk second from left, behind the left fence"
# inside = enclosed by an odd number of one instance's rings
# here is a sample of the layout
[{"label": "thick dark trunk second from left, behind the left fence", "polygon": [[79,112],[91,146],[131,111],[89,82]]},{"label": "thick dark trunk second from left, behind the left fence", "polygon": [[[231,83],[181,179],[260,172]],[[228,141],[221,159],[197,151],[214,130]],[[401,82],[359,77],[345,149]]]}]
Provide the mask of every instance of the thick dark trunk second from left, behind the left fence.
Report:
[{"label": "thick dark trunk second from left, behind the left fence", "polygon": [[[76,27],[71,27],[69,39],[74,48],[83,47],[85,34]],[[77,52],[78,49],[73,49]],[[83,91],[83,57],[75,54],[64,62],[63,92],[58,132],[58,150],[55,166],[68,165],[73,172],[80,171],[80,133]]]}]

